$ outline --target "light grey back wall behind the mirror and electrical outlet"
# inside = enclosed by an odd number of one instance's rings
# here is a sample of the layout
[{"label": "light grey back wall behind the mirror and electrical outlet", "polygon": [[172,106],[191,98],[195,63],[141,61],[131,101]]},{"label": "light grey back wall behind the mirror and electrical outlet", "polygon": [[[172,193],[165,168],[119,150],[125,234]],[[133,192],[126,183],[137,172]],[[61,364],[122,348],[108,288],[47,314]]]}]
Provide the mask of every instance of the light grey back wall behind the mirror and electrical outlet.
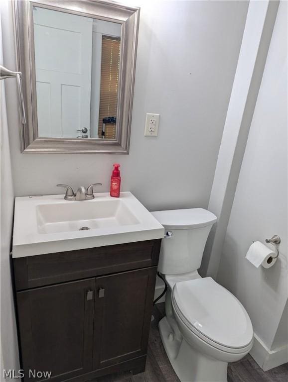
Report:
[{"label": "light grey back wall behind the mirror and electrical outlet", "polygon": [[[16,195],[59,193],[95,182],[109,190],[121,163],[122,190],[152,209],[207,207],[245,24],[246,1],[142,1],[130,155],[21,154],[15,89],[7,89]],[[188,16],[188,17],[187,17]],[[14,68],[11,15],[4,59]],[[146,112],[160,113],[157,138]],[[99,190],[100,191],[100,190]]]}]

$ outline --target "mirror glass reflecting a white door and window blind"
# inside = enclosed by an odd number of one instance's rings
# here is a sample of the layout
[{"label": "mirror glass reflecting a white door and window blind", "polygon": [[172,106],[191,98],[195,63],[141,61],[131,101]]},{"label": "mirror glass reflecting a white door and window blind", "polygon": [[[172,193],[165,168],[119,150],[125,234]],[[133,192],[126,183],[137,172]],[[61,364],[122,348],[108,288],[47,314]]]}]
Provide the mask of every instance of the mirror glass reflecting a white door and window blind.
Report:
[{"label": "mirror glass reflecting a white door and window blind", "polygon": [[38,137],[116,139],[122,25],[33,6]]}]

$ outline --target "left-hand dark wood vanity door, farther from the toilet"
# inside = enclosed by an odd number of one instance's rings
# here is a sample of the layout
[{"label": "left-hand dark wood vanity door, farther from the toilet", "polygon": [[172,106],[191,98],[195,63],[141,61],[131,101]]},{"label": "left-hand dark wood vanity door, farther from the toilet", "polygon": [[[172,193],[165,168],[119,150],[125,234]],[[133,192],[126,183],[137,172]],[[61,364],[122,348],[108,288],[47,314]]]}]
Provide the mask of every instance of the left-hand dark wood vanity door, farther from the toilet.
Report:
[{"label": "left-hand dark wood vanity door, farther from the toilet", "polygon": [[51,382],[91,371],[94,291],[88,279],[17,292],[24,381],[46,381],[29,369],[51,371]]}]

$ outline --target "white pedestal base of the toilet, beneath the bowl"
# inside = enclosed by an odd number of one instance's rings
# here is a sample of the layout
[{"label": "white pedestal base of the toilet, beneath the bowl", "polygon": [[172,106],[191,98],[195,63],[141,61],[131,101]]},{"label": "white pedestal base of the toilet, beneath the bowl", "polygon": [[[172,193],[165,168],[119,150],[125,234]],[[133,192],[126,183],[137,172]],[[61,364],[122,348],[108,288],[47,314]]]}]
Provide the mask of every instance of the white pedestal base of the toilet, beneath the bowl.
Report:
[{"label": "white pedestal base of the toilet, beneath the bowl", "polygon": [[166,317],[159,322],[159,331],[172,368],[181,382],[227,382],[227,362],[195,351],[183,337],[179,340]]}]

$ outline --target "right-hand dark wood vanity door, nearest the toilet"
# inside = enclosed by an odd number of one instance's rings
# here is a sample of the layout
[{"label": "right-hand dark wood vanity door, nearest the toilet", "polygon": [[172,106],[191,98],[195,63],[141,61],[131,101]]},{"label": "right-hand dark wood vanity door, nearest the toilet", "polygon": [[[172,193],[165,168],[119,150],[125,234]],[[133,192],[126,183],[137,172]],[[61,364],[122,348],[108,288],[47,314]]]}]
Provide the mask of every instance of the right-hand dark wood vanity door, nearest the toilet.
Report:
[{"label": "right-hand dark wood vanity door, nearest the toilet", "polygon": [[156,271],[151,267],[96,279],[94,370],[146,354]]}]

